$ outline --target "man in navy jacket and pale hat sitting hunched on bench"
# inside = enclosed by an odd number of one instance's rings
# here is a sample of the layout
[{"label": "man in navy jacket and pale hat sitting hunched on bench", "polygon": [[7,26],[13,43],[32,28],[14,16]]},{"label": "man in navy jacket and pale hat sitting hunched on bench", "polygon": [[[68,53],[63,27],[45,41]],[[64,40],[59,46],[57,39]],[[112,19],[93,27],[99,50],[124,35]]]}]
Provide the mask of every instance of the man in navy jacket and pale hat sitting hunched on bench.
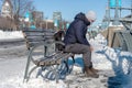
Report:
[{"label": "man in navy jacket and pale hat sitting hunched on bench", "polygon": [[87,14],[78,13],[66,32],[64,43],[66,45],[65,52],[82,54],[84,73],[86,76],[98,78],[98,70],[92,67],[91,63],[91,52],[94,48],[86,38],[87,26],[95,22],[95,20],[96,13],[94,11],[88,11]]}]

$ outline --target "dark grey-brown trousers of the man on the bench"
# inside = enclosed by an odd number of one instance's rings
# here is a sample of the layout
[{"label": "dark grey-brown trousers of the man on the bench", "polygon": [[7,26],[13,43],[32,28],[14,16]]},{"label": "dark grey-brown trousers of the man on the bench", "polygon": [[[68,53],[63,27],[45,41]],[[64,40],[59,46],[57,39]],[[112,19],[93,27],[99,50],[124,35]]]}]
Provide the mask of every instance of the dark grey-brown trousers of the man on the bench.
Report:
[{"label": "dark grey-brown trousers of the man on the bench", "polygon": [[78,43],[69,44],[66,45],[65,52],[69,52],[73,54],[82,54],[84,65],[87,67],[92,67],[90,46]]}]

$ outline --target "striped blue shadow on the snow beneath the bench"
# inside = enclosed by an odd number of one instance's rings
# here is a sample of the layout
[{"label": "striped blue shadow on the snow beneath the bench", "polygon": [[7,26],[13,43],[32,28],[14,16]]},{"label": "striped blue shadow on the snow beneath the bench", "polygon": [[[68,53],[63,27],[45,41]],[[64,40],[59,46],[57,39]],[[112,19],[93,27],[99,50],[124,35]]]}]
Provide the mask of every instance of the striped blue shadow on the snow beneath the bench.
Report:
[{"label": "striped blue shadow on the snow beneath the bench", "polygon": [[[68,58],[68,69],[66,67],[66,64],[63,63],[57,67],[57,73],[58,73],[58,79],[61,80],[65,80],[66,76],[72,74],[74,66],[78,66],[78,67],[84,67],[84,63],[82,63],[82,57],[76,57],[75,58],[75,63],[74,61],[69,57]],[[42,67],[38,69],[36,77],[41,76],[44,80],[55,80],[55,73],[54,70],[52,70],[48,67]]]}]

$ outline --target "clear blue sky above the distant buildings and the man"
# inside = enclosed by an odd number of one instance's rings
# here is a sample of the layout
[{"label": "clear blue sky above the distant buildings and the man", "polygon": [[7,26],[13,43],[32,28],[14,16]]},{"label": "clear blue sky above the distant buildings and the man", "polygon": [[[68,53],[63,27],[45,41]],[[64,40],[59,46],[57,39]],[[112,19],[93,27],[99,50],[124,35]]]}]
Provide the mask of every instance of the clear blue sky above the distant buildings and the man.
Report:
[{"label": "clear blue sky above the distant buildings and the man", "polygon": [[[128,4],[122,0],[123,4]],[[97,13],[97,22],[100,23],[105,16],[108,0],[34,0],[36,10],[43,11],[44,16],[52,19],[53,12],[61,11],[63,19],[73,21],[78,12],[87,13],[94,10]]]}]

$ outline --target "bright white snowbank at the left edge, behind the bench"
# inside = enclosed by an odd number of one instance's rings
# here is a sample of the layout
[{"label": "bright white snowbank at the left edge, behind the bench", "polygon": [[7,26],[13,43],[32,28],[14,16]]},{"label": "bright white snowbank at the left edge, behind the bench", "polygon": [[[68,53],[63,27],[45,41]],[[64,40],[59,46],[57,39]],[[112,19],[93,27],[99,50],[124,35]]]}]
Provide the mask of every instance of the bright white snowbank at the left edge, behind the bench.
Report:
[{"label": "bright white snowbank at the left edge, behind the bench", "polygon": [[23,38],[23,34],[21,31],[1,31],[0,30],[0,40],[9,40],[9,38]]}]

